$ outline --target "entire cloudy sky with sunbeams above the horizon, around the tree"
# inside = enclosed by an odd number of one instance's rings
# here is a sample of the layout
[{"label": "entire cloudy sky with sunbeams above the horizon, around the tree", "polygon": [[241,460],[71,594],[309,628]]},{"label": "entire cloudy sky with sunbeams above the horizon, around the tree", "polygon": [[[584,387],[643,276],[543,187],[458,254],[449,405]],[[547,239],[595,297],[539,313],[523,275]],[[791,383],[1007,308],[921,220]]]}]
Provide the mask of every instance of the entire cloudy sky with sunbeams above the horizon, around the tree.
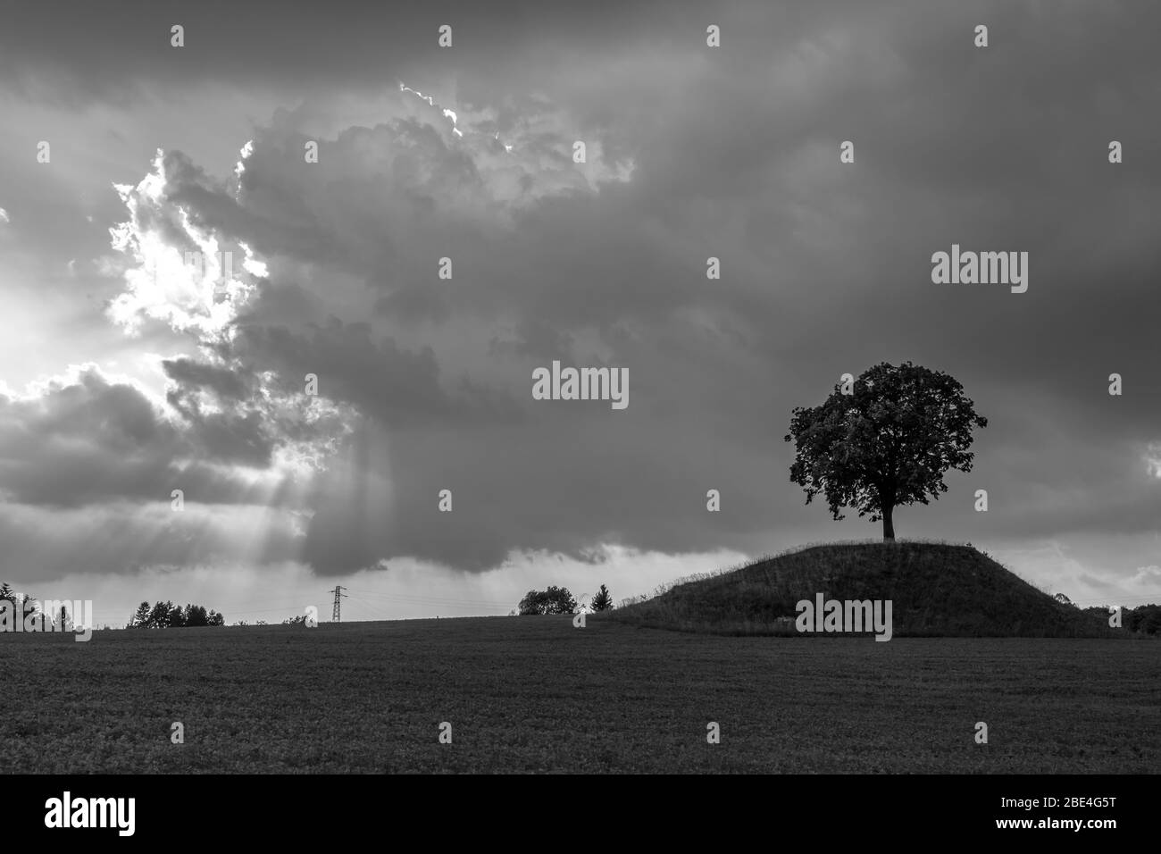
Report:
[{"label": "entire cloudy sky with sunbeams above the horizon, around the tree", "polygon": [[[0,580],[113,625],[325,619],[337,584],[344,619],[636,596],[879,536],[805,504],[783,437],[910,360],[988,426],[899,537],[1159,601],[1159,29],[1144,1],[17,0]],[[1027,252],[1026,292],[935,284],[953,244]],[[535,400],[554,360],[625,371],[628,406]]]}]

